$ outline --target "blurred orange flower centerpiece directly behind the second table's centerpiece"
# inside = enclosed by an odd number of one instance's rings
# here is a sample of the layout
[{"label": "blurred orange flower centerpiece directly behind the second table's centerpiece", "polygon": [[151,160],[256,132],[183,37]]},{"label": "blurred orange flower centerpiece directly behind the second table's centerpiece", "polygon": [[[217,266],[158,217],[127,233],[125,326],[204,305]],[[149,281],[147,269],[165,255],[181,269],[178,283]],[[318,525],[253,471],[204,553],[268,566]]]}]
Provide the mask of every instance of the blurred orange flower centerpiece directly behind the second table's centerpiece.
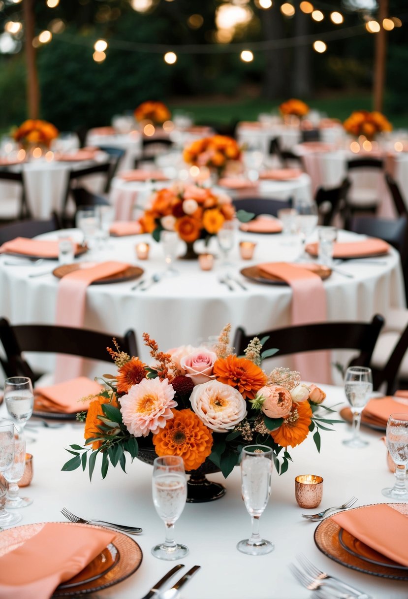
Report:
[{"label": "blurred orange flower centerpiece directly behind the second table's centerpiece", "polygon": [[241,150],[235,139],[227,135],[212,135],[193,141],[185,147],[184,161],[197,167],[208,167],[219,176],[226,168],[241,159]]}]

